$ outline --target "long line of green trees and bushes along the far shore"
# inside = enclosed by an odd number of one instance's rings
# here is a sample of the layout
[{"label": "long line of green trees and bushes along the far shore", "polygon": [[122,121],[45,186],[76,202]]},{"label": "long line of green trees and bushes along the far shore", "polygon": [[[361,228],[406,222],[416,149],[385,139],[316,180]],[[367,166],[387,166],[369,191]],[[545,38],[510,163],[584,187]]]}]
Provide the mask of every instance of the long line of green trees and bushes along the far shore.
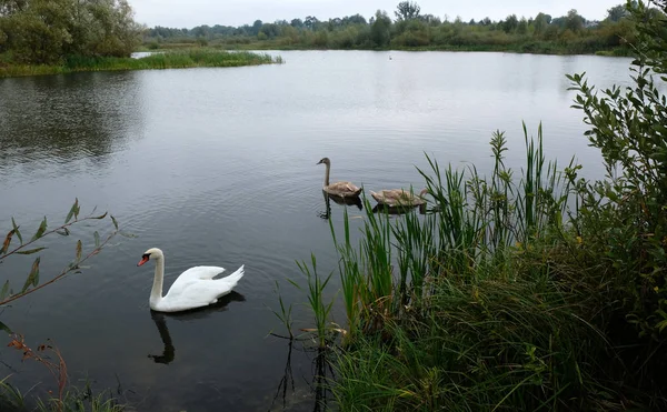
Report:
[{"label": "long line of green trees and bushes along the far shore", "polygon": [[[629,6],[631,7],[631,4]],[[656,13],[659,13],[656,10]],[[145,32],[145,46],[158,49],[178,43],[219,44],[227,48],[279,49],[461,49],[516,50],[544,53],[593,53],[624,51],[635,40],[635,26],[625,4],[607,10],[604,21],[590,21],[577,10],[567,16],[538,13],[534,18],[508,16],[462,21],[422,14],[416,2],[398,3],[392,20],[378,10],[366,19],[360,14],[320,21],[313,16],[291,21],[252,26],[198,26],[192,29],[155,27]]]}]

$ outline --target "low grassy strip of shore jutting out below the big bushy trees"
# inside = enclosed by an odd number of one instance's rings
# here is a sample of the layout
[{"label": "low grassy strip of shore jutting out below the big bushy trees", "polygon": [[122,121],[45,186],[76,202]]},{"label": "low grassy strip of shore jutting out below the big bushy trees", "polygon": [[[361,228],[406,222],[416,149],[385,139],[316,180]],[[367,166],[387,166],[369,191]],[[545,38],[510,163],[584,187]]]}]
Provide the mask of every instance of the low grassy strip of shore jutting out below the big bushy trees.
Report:
[{"label": "low grassy strip of shore jutting out below the big bushy trees", "polygon": [[61,64],[14,64],[0,60],[0,78],[64,74],[84,71],[186,69],[282,63],[280,57],[208,48],[169,50],[139,59],[69,57]]}]

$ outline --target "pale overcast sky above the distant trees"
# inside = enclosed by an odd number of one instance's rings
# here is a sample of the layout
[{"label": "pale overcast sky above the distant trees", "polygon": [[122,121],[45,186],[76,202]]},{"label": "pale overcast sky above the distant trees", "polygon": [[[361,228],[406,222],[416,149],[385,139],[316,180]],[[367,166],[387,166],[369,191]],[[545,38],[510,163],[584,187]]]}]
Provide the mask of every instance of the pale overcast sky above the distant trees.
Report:
[{"label": "pale overcast sky above the distant trees", "polygon": [[[273,22],[307,16],[319,20],[361,14],[369,19],[376,10],[385,10],[394,19],[400,0],[128,0],[135,10],[135,20],[148,27],[193,28],[196,26],[252,24],[255,20]],[[552,17],[565,16],[577,9],[588,20],[603,20],[607,9],[625,0],[417,0],[421,14],[434,14],[452,21],[460,16],[464,21],[505,19],[509,14],[526,18],[538,12]]]}]

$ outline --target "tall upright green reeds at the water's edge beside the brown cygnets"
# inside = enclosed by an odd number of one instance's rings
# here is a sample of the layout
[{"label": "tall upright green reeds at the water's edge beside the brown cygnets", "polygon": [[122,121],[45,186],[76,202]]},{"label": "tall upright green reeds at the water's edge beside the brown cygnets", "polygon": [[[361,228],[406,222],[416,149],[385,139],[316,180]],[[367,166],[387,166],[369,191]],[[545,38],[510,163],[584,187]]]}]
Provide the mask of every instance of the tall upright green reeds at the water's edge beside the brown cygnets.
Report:
[{"label": "tall upright green reeds at the water's edge beside the brown cygnets", "polygon": [[496,132],[490,177],[475,167],[441,169],[427,155],[431,170],[418,171],[435,205],[427,207],[425,217],[407,213],[392,220],[374,213],[365,199],[358,248],[350,241],[347,211],[341,241],[330,223],[350,336],[400,316],[406,305],[432,293],[438,279],[478,277],[486,267],[506,262],[508,251],[525,250],[546,231],[563,227],[570,183],[555,162],[545,163],[541,125],[536,140],[525,125],[524,133],[526,168],[518,181],[505,164],[507,140]]}]

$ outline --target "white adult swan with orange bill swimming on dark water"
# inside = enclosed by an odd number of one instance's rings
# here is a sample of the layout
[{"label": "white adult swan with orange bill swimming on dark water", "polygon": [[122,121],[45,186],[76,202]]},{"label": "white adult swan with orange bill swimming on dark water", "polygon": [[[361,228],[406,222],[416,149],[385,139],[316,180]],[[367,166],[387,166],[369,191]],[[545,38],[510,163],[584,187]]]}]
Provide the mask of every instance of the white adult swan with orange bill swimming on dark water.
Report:
[{"label": "white adult swan with orange bill swimming on dark water", "polygon": [[158,248],[147,250],[138,267],[150,259],[156,261],[156,277],[150,291],[150,309],[158,312],[179,312],[188,309],[213,304],[218,298],[231,292],[239,279],[243,277],[243,267],[222,279],[213,279],[225,271],[219,267],[195,267],[181,273],[169,292],[162,297],[162,279],[165,278],[165,254]]}]

